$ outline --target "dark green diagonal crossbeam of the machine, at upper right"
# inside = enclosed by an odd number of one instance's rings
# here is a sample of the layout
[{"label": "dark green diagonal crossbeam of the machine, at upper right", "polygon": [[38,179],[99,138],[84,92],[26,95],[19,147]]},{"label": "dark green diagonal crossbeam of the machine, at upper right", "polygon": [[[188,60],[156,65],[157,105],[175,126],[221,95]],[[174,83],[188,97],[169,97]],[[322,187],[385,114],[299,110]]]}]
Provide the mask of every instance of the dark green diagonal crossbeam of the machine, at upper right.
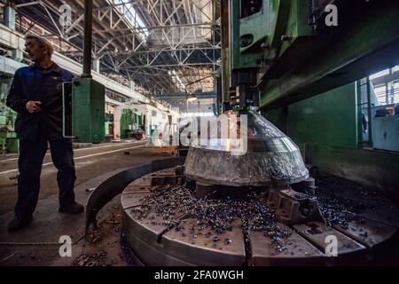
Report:
[{"label": "dark green diagonal crossbeam of the machine, at upper right", "polygon": [[291,104],[399,64],[399,26],[393,24],[399,3],[364,5],[356,14],[348,12],[350,18],[340,18],[339,32],[309,38],[313,44],[307,46],[318,49],[301,65],[278,78],[266,73],[258,85],[261,106]]}]

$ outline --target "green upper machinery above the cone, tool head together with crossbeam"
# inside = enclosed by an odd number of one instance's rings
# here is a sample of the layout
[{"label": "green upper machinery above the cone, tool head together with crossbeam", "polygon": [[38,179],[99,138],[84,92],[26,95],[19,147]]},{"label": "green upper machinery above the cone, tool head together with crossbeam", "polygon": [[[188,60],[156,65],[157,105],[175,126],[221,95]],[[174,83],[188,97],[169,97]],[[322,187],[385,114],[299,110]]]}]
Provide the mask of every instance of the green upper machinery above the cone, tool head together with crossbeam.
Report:
[{"label": "green upper machinery above the cone, tool head together with crossbeam", "polygon": [[222,0],[221,7],[219,111],[285,106],[397,59],[398,1]]}]

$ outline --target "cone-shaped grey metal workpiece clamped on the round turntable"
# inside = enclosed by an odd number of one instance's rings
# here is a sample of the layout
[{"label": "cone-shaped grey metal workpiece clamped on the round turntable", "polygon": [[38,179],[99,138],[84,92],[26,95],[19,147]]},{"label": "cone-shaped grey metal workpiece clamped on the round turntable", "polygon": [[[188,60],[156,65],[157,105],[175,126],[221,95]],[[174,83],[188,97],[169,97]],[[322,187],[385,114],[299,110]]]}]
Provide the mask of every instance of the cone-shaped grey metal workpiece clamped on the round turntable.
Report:
[{"label": "cone-shaped grey metal workpiece clamped on the round turntable", "polygon": [[[215,143],[190,146],[184,164],[184,175],[194,180],[231,186],[270,185],[272,180],[297,183],[309,177],[299,148],[261,114],[247,114],[246,152],[233,153],[231,138],[214,133]],[[215,127],[216,130],[220,128]],[[215,145],[214,145],[215,144]]]}]

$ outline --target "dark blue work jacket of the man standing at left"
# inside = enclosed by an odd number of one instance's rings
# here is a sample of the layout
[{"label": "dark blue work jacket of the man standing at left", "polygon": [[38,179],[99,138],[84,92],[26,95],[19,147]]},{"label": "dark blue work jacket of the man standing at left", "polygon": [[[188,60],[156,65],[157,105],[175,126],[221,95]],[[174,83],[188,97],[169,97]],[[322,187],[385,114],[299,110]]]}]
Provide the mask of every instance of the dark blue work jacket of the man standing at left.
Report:
[{"label": "dark blue work jacket of the man standing at left", "polygon": [[[15,131],[20,139],[62,138],[62,83],[70,81],[72,74],[55,63],[48,69],[32,65],[15,72],[7,106],[18,112]],[[70,84],[65,87],[66,104],[70,105]],[[26,108],[29,100],[41,101],[42,110],[29,114]]]}]

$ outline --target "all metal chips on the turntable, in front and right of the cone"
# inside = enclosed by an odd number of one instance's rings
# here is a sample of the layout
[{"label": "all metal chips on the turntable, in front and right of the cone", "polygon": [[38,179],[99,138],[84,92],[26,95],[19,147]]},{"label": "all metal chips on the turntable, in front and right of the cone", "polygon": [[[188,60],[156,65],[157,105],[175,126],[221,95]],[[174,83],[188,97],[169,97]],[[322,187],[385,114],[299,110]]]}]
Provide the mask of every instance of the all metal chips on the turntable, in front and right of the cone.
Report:
[{"label": "all metal chips on the turntable, in front and right of the cone", "polygon": [[[362,201],[361,196],[375,197],[376,202],[381,195],[376,192],[358,188],[358,185],[350,185],[337,177],[317,178],[316,195],[298,193],[301,197],[316,197],[322,217],[326,225],[341,225],[348,227],[348,222],[361,222],[361,217],[356,216],[364,210],[373,210],[372,205]],[[340,196],[340,193],[356,193],[360,195],[357,200],[351,200]],[[246,243],[247,252],[250,248],[251,232],[262,232],[269,237],[272,246],[278,251],[286,250],[284,240],[292,233],[286,225],[281,225],[275,216],[275,210],[267,206],[267,193],[247,193],[243,199],[231,197],[221,199],[196,199],[193,197],[191,187],[184,185],[164,185],[154,190],[143,199],[140,208],[132,209],[135,218],[140,220],[152,220],[161,217],[161,225],[172,227],[180,232],[182,237],[190,234],[193,239],[205,228],[210,228],[212,233],[205,233],[215,243],[230,244],[233,240],[223,238],[223,233],[232,230],[232,222],[241,220],[242,232]],[[262,195],[263,194],[263,195]],[[154,214],[153,214],[154,213]],[[184,223],[187,218],[197,220],[195,225],[185,232]],[[153,224],[155,222],[153,221]],[[215,245],[214,245],[215,247]]]}]

